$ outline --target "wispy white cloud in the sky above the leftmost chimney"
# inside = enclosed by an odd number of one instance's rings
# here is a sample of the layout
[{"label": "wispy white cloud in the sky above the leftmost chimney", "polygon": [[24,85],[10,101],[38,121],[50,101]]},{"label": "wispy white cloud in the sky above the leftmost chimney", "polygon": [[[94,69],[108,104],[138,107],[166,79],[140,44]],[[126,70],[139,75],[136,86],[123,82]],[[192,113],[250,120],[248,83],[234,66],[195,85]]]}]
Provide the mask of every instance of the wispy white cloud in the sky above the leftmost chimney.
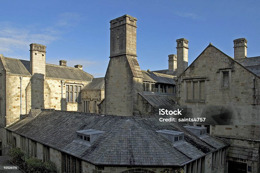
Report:
[{"label": "wispy white cloud in the sky above the leftmost chimney", "polygon": [[[22,56],[27,52],[30,43],[48,45],[62,38],[81,20],[80,14],[66,12],[61,13],[55,19],[53,25],[42,27],[41,24],[33,23],[30,26],[17,27],[17,24],[0,21],[0,54],[8,56]],[[28,57],[28,55],[25,55]]]}]

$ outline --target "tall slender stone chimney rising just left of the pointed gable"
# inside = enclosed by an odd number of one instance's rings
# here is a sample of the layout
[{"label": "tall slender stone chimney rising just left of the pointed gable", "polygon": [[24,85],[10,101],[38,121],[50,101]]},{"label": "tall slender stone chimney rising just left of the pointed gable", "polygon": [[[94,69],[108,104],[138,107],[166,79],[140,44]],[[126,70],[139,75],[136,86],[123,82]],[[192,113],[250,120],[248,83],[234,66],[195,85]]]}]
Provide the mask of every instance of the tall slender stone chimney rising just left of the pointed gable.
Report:
[{"label": "tall slender stone chimney rising just left of the pointed gable", "polygon": [[177,39],[177,78],[188,67],[188,43],[187,39]]}]

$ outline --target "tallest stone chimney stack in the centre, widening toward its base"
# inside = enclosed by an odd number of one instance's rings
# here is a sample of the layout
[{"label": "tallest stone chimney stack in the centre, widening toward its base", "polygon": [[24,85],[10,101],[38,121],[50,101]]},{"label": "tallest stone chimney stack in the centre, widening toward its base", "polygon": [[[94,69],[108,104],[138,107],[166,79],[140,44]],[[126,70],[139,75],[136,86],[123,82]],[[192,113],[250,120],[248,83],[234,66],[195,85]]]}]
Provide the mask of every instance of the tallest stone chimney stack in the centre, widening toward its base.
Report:
[{"label": "tallest stone chimney stack in the centre, widening toward its base", "polygon": [[143,75],[136,59],[135,17],[124,15],[110,21],[110,60],[105,75],[104,112],[133,116]]}]

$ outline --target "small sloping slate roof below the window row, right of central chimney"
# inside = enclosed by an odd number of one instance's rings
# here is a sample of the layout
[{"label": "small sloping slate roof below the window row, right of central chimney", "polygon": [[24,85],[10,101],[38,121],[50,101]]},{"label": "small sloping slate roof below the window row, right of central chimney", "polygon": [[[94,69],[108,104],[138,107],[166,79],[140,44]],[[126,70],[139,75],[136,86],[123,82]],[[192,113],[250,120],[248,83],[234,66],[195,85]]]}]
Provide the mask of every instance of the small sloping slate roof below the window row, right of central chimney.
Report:
[{"label": "small sloping slate roof below the window row, right of central chimney", "polygon": [[146,94],[142,92],[138,93],[154,108],[157,108],[158,106],[170,106],[172,110],[179,108],[177,105],[175,105],[176,95]]}]

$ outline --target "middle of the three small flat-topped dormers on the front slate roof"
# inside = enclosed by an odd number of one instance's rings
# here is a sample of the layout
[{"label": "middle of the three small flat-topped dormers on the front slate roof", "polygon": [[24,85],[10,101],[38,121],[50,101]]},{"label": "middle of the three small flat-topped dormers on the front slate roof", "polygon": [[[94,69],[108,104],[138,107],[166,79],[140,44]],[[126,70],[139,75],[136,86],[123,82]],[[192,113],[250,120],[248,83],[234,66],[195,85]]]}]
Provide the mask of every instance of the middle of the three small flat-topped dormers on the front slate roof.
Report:
[{"label": "middle of the three small flat-topped dormers on the front slate roof", "polygon": [[163,137],[170,140],[173,144],[184,140],[184,132],[177,132],[172,130],[157,130]]}]

